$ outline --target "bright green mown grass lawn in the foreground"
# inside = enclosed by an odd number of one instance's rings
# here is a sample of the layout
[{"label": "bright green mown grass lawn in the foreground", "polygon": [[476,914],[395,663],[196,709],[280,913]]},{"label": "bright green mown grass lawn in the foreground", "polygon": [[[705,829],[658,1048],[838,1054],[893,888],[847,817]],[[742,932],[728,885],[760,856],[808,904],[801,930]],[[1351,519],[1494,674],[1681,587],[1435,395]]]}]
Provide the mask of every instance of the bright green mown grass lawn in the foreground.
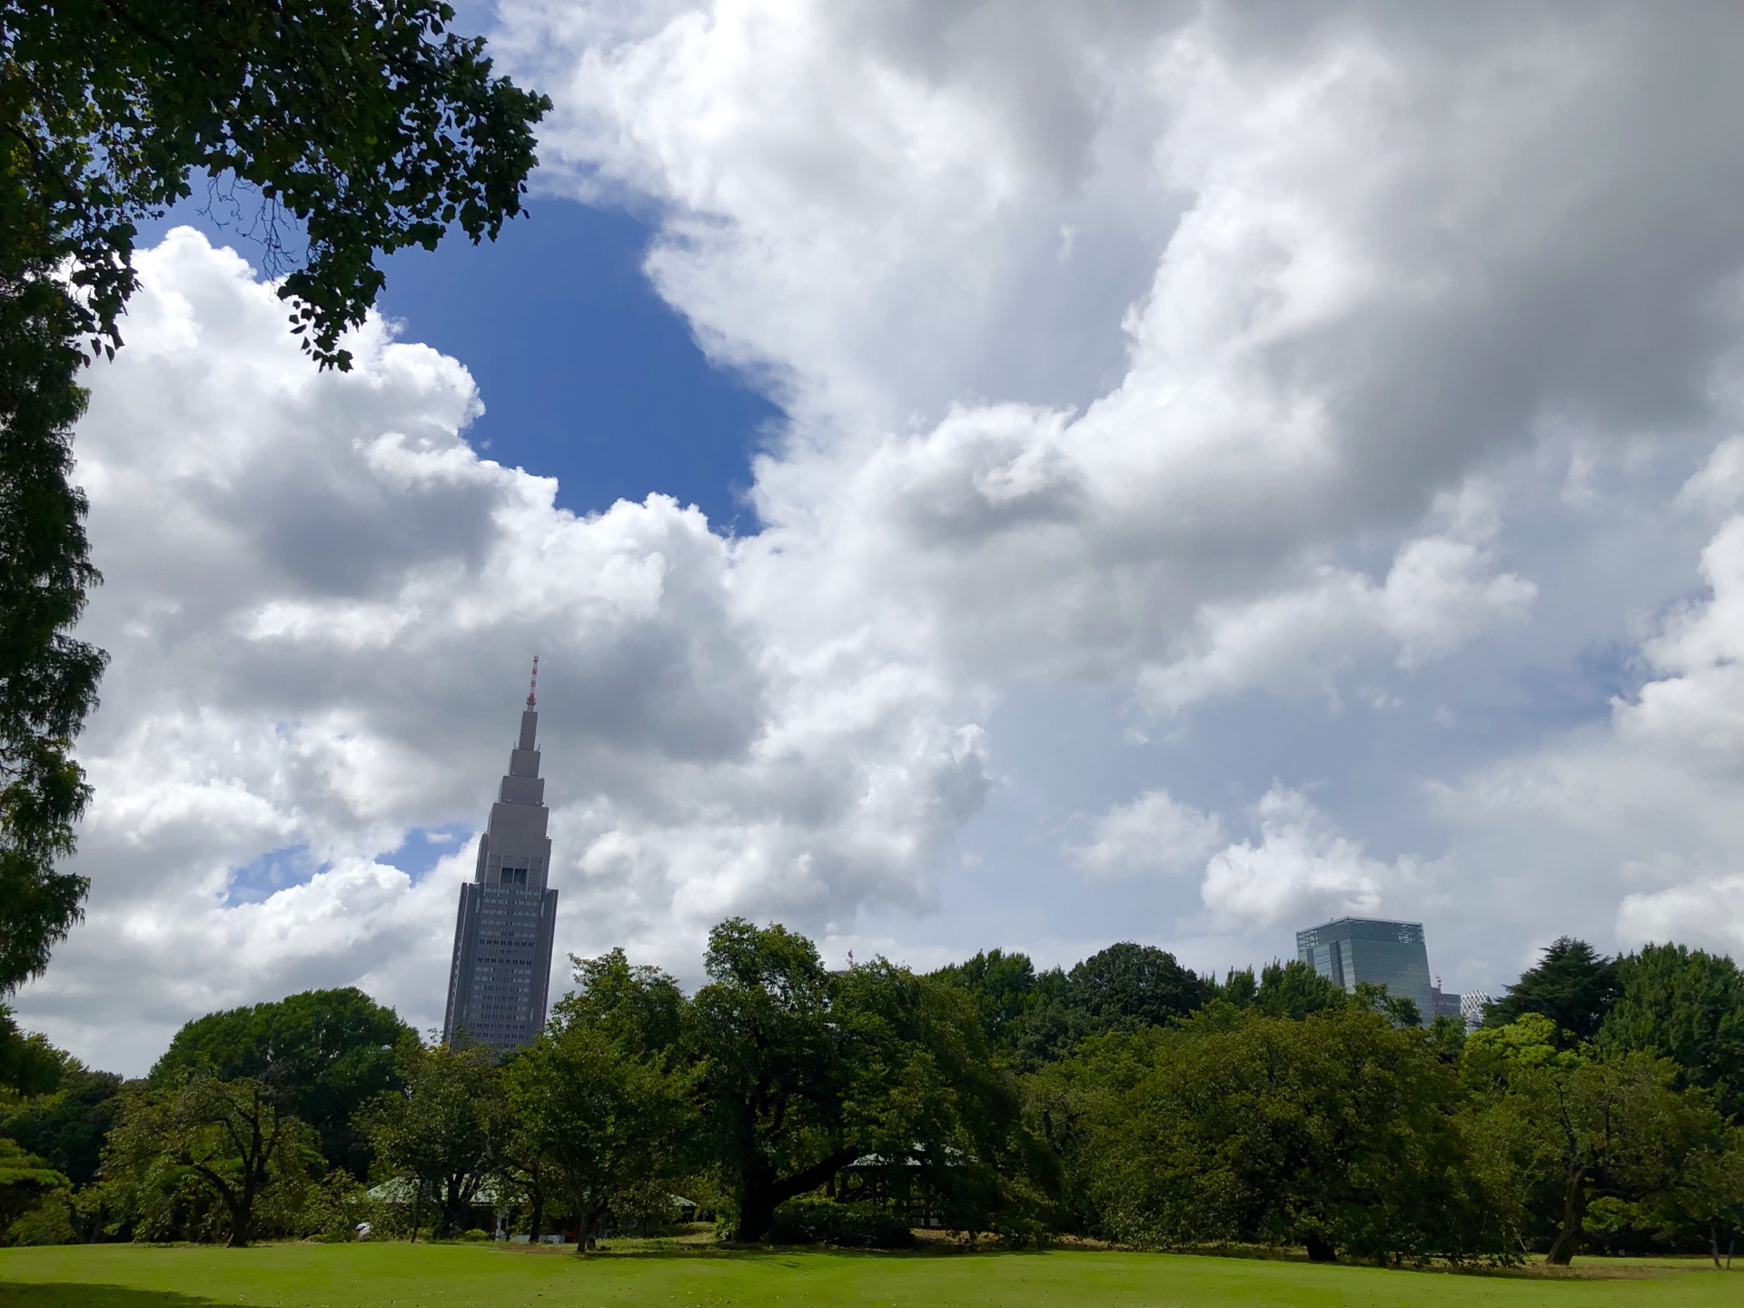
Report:
[{"label": "bright green mown grass lawn in the foreground", "polygon": [[0,1308],[1067,1308],[1744,1305],[1744,1268],[1594,1263],[1577,1277],[1449,1275],[1235,1257],[600,1254],[504,1245],[73,1245],[0,1250]]}]

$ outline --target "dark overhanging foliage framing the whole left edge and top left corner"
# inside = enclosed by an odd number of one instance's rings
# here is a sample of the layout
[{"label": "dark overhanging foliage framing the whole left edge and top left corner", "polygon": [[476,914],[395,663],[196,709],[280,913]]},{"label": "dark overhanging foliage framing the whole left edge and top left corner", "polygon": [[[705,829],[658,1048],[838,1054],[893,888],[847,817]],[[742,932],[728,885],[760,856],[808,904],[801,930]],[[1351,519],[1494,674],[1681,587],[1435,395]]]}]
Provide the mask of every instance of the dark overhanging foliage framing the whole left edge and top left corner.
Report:
[{"label": "dark overhanging foliage framing the whole left edge and top left corner", "polygon": [[105,656],[70,483],[80,368],[120,345],[141,218],[216,180],[258,204],[319,366],[382,288],[377,256],[520,213],[544,96],[492,73],[439,0],[0,0],[0,992],[47,964],[85,879],[72,741]]}]

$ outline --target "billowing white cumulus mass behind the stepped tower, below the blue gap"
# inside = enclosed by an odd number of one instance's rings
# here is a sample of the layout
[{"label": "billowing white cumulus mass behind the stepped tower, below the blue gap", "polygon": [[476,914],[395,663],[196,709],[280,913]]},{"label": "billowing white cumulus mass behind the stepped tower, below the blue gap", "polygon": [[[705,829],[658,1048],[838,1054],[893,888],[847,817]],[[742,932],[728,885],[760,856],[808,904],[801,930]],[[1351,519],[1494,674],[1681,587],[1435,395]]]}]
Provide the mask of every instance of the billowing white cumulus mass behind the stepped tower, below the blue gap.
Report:
[{"label": "billowing white cumulus mass behind the stepped tower, below the blue gap", "polygon": [[930,900],[987,781],[924,666],[776,640],[780,588],[696,509],[555,509],[462,439],[466,370],[380,321],[317,373],[192,230],[140,274],[78,433],[108,574],[85,631],[113,654],[82,746],[94,889],[30,1020],[134,1067],[190,1015],[317,982],[436,1022],[469,851],[392,863],[483,816],[534,652],[560,947],[678,966],[732,912]]}]

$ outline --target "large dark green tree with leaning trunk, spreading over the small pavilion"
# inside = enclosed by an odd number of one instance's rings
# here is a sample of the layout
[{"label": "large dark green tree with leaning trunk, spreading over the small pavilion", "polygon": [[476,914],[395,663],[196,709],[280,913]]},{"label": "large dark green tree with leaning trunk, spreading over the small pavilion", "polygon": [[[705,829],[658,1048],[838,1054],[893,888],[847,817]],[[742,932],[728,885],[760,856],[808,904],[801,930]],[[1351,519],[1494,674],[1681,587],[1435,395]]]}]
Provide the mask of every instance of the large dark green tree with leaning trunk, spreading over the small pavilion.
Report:
[{"label": "large dark green tree with leaning trunk, spreading over the small pavilion", "polygon": [[968,1230],[1013,1221],[1024,1196],[998,1168],[1029,1142],[968,994],[882,959],[830,971],[797,931],[739,917],[710,931],[705,966],[685,1036],[701,1066],[696,1144],[739,1240],[764,1238],[781,1203],[849,1163],[924,1182]]}]

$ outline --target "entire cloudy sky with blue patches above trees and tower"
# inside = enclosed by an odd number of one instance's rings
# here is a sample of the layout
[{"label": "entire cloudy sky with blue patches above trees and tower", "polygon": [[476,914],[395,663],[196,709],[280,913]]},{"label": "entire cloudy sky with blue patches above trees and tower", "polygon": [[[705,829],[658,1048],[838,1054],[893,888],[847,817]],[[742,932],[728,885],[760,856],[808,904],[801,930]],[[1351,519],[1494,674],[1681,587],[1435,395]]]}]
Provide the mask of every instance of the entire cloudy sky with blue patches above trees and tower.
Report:
[{"label": "entire cloudy sky with blue patches above trees and tower", "polygon": [[354,371],[145,234],[28,1025],[439,1024],[534,654],[560,957],[1741,956],[1735,7],[467,16],[555,101],[530,215],[391,258]]}]

